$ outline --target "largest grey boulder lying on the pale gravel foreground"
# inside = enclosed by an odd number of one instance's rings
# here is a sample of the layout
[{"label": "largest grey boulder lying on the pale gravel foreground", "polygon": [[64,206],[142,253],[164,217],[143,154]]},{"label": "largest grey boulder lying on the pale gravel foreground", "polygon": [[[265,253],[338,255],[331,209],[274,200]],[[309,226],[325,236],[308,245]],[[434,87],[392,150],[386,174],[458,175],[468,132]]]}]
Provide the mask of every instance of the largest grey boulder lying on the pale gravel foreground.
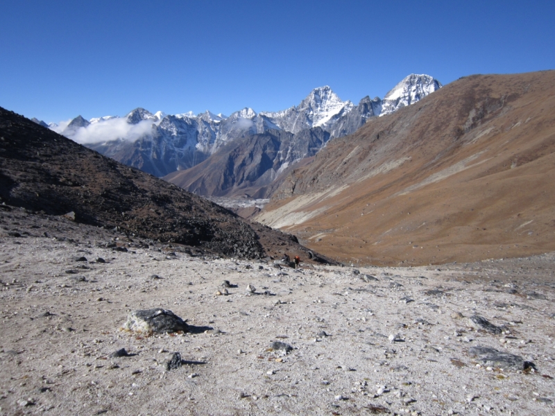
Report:
[{"label": "largest grey boulder lying on the pale gravel foreground", "polygon": [[139,333],[187,332],[189,325],[172,311],[155,308],[131,312],[123,329]]}]

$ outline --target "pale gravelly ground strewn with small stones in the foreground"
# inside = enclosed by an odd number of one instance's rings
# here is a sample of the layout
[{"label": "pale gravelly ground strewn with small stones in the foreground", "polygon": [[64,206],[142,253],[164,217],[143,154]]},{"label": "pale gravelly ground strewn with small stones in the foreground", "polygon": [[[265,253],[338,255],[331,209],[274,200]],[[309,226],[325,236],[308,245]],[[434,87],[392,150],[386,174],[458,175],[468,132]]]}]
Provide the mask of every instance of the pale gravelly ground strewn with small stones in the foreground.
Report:
[{"label": "pale gravelly ground strewn with small stones in the foreground", "polygon": [[554,254],[295,270],[0,217],[2,415],[555,412]]}]

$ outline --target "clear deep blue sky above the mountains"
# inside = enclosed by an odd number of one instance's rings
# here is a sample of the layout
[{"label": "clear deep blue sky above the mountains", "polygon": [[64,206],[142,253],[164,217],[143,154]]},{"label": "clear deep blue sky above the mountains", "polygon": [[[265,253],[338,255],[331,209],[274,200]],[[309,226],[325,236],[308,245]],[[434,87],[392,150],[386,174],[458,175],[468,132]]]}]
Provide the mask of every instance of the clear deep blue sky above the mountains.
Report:
[{"label": "clear deep blue sky above the mountains", "polygon": [[283,110],[409,73],[555,69],[555,1],[18,0],[0,10],[0,106],[46,122]]}]

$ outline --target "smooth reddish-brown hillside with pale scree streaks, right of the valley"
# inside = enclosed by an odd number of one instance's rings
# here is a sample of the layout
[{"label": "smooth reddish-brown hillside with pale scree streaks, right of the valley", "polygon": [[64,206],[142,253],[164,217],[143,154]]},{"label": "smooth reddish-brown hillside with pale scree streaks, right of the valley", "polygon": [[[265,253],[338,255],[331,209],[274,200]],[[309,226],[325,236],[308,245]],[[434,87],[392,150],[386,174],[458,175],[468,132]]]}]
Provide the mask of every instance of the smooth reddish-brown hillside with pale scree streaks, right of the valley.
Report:
[{"label": "smooth reddish-brown hillside with pale scree streaks, right of the valley", "polygon": [[461,78],[296,169],[257,220],[336,259],[555,250],[555,71]]}]

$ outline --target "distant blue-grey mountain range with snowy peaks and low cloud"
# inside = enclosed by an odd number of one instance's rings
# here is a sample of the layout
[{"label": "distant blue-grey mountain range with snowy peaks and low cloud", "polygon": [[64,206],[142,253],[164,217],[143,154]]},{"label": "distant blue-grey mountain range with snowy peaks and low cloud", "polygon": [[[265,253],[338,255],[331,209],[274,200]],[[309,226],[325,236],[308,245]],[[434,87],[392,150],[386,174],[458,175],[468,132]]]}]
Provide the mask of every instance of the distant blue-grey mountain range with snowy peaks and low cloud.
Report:
[{"label": "distant blue-grey mountain range with snowy peaks and low cloud", "polygon": [[[274,143],[273,156],[260,155],[264,164],[235,175],[248,178],[251,186],[271,182],[289,164],[314,155],[330,138],[351,134],[368,119],[415,103],[441,86],[431,76],[413,74],[398,83],[383,100],[366,96],[358,105],[341,101],[325,86],[314,89],[299,105],[279,112],[257,113],[246,107],[230,116],[210,111],[198,115],[191,112],[167,115],[137,108],[121,119],[104,116],[87,121],[78,116],[67,125],[51,124],[50,128],[118,162],[158,177],[193,168],[239,139],[252,141],[255,136],[267,135],[264,140]],[[268,157],[271,163],[267,162]],[[247,186],[240,179],[239,183],[232,182],[233,186]],[[191,186],[203,195],[213,188],[210,184]],[[218,189],[218,193],[228,193],[227,189]]]}]

